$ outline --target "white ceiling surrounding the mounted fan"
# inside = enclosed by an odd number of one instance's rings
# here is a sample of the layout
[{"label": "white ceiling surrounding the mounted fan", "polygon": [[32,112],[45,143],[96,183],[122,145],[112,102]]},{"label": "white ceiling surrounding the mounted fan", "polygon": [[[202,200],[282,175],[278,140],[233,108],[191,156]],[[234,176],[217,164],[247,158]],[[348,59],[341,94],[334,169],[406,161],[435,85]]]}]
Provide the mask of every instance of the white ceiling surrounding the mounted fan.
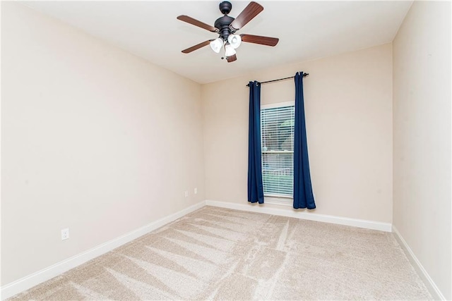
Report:
[{"label": "white ceiling surrounding the mounted fan", "polygon": [[[26,1],[137,56],[199,83],[391,42],[412,1],[261,1],[264,8],[238,33],[279,37],[275,47],[242,43],[227,63],[206,46],[186,49],[213,32],[177,20],[187,15],[213,25],[220,1]],[[249,1],[232,0],[236,17]]]}]

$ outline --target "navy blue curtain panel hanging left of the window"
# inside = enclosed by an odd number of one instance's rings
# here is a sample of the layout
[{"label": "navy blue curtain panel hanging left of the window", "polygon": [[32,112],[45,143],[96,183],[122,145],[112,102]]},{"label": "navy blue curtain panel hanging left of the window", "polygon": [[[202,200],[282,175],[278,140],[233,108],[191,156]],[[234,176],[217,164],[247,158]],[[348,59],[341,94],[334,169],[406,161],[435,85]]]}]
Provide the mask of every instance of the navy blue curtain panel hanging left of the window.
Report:
[{"label": "navy blue curtain panel hanging left of the window", "polygon": [[261,83],[249,82],[248,202],[263,204]]}]

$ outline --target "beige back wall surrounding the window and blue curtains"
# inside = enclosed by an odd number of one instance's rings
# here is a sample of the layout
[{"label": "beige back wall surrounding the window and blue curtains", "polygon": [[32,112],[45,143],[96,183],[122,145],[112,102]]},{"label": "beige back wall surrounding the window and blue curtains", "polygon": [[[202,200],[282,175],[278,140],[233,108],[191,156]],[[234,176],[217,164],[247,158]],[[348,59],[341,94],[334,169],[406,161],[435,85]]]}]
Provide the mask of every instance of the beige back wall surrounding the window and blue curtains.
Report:
[{"label": "beige back wall surrounding the window and blue curtains", "polygon": [[[206,199],[247,202],[246,83],[299,70],[310,73],[304,99],[314,212],[391,223],[391,44],[203,85]],[[262,104],[294,99],[293,80],[262,86]]]}]

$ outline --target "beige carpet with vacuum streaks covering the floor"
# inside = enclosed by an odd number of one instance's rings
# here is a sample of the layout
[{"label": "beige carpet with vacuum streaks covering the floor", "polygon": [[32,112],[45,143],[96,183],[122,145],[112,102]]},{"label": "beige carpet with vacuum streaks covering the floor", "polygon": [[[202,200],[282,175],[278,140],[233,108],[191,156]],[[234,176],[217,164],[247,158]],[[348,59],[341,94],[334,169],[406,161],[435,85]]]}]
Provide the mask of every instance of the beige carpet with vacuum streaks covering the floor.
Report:
[{"label": "beige carpet with vacuum streaks covering the floor", "polygon": [[431,300],[392,233],[203,207],[13,300]]}]

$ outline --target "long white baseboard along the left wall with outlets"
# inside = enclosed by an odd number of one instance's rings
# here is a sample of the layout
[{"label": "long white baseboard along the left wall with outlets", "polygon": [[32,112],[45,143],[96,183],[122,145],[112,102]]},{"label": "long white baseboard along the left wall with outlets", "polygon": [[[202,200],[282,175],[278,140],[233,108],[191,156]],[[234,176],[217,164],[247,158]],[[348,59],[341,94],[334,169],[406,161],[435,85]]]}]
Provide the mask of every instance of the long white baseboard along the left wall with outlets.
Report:
[{"label": "long white baseboard along the left wall with outlets", "polygon": [[93,249],[85,251],[81,254],[77,254],[76,256],[70,257],[62,262],[58,262],[57,264],[53,264],[52,266],[49,266],[46,269],[42,269],[41,271],[37,271],[33,274],[20,278],[17,281],[8,283],[7,285],[1,287],[0,290],[1,300],[4,300],[8,297],[12,297],[13,295],[23,292],[24,290],[28,290],[29,288],[32,288],[37,284],[40,284],[44,281],[54,278],[55,276],[58,276],[64,273],[65,271],[69,271],[70,269],[73,269],[76,266],[79,266],[85,262],[88,262],[91,259],[94,259],[95,257],[98,257],[113,249],[116,249],[117,247],[120,247],[121,245],[124,245],[125,243],[130,242],[131,240],[139,238],[140,236],[145,235],[150,231],[165,226],[167,223],[175,221],[176,219],[179,219],[182,216],[189,214],[190,212],[200,209],[201,207],[204,206],[206,206],[205,201],[199,202],[198,204],[194,204],[191,207],[188,207],[181,211],[177,211],[176,213],[171,214],[169,216],[165,216],[164,218],[159,219],[157,221],[153,221],[152,223],[149,223],[146,226],[126,233],[125,235],[121,235],[119,236],[119,238],[109,240],[108,242],[105,242],[102,245],[93,247]]}]

